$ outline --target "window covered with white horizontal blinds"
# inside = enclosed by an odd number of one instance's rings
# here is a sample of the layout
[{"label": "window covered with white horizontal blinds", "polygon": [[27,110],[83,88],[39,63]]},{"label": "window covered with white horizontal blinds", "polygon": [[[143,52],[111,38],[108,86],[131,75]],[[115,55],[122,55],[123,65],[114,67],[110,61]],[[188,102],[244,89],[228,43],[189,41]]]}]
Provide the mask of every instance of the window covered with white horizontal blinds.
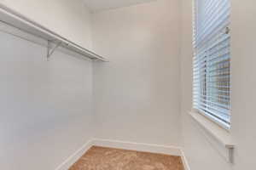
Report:
[{"label": "window covered with white horizontal blinds", "polygon": [[230,0],[195,0],[193,107],[230,127]]}]

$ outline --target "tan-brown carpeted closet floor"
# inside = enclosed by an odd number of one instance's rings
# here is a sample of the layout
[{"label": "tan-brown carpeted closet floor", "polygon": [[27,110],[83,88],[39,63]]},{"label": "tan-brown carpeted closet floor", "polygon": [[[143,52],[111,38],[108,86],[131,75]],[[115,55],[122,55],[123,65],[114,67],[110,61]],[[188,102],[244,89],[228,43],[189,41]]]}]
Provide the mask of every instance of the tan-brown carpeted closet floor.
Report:
[{"label": "tan-brown carpeted closet floor", "polygon": [[69,170],[183,170],[181,158],[93,146]]}]

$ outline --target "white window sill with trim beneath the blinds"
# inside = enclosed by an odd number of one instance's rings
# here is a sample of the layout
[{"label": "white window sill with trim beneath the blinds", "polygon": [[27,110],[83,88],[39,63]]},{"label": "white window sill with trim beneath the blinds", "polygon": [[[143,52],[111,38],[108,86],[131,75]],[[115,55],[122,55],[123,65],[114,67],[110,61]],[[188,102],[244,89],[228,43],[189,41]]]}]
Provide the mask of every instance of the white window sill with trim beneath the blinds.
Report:
[{"label": "white window sill with trim beneath the blinds", "polygon": [[212,146],[218,150],[221,156],[230,163],[233,163],[233,152],[235,144],[233,144],[230,133],[224,127],[218,126],[217,123],[212,122],[206,116],[200,113],[190,111],[189,115],[200,128],[201,133],[207,138]]}]

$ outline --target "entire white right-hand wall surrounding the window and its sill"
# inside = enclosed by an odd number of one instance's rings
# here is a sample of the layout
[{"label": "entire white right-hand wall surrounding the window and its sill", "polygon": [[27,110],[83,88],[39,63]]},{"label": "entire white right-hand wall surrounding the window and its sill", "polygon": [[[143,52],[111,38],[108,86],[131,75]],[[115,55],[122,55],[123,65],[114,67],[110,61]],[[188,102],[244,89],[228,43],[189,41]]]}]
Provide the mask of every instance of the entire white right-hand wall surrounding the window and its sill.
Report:
[{"label": "entire white right-hand wall surrounding the window and its sill", "polygon": [[231,10],[231,136],[236,144],[235,163],[224,161],[196,128],[188,112],[192,98],[192,1],[183,0],[183,38],[181,54],[183,145],[191,170],[254,169],[256,116],[255,46],[256,2],[232,0]]}]

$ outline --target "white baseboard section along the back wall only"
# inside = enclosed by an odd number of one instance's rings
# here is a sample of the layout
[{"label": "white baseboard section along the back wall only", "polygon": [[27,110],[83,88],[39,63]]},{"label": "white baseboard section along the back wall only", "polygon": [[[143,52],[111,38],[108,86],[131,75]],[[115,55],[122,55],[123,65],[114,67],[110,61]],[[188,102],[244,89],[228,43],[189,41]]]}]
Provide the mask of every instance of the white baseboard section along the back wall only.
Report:
[{"label": "white baseboard section along the back wall only", "polygon": [[97,146],[117,148],[123,150],[145,151],[172,156],[181,156],[181,148],[177,146],[167,146],[160,144],[142,144],[109,139],[94,139],[93,141],[94,145]]}]

